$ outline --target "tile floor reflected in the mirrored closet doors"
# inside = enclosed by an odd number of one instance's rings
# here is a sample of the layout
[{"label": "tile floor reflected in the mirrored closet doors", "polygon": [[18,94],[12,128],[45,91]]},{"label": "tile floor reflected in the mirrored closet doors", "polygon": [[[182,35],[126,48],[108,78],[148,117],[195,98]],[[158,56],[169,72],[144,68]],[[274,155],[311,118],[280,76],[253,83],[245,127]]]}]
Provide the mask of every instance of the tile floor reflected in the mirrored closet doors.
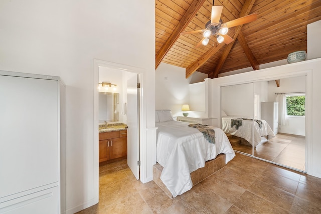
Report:
[{"label": "tile floor reflected in the mirrored closet doors", "polygon": [[[233,149],[252,154],[252,146],[238,144]],[[276,134],[268,142],[254,148],[254,156],[305,171],[305,137]]]}]

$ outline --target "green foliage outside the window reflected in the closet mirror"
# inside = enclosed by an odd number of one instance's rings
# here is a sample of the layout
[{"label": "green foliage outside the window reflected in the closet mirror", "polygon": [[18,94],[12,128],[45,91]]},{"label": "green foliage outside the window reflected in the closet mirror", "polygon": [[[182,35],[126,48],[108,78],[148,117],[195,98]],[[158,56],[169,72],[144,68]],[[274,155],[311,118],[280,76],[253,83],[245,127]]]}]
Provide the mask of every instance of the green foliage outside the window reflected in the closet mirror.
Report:
[{"label": "green foliage outside the window reflected in the closet mirror", "polygon": [[286,97],[286,112],[291,116],[305,115],[305,96]]}]

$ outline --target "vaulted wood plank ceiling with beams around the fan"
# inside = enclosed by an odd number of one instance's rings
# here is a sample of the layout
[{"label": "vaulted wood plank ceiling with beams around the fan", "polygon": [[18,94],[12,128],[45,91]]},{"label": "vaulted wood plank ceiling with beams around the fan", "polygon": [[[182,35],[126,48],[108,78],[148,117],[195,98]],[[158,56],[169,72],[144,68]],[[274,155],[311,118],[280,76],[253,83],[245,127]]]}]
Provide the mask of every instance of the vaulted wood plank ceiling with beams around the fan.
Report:
[{"label": "vaulted wood plank ceiling with beams around the fan", "polygon": [[[294,51],[307,51],[306,25],[321,20],[321,0],[219,0],[223,23],[257,13],[257,20],[229,29],[229,45],[210,40],[195,46],[203,34],[181,32],[205,29],[211,19],[212,0],[155,0],[156,68],[161,62],[215,78],[219,73],[286,59]],[[213,38],[213,37],[212,37]]]}]

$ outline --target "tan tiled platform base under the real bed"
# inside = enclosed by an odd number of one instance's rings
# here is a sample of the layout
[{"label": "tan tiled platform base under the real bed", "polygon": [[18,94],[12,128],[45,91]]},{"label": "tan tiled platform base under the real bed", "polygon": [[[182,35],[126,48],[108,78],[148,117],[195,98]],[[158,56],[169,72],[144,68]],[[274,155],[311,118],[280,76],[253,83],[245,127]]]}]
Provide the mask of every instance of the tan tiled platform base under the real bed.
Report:
[{"label": "tan tiled platform base under the real bed", "polygon": [[[203,168],[199,168],[196,171],[191,173],[191,179],[193,182],[193,186],[214,174],[216,171],[220,170],[225,166],[225,154],[219,154],[213,160],[208,160],[205,162],[205,166]],[[172,193],[166,187],[166,185],[161,180],[161,174],[163,171],[163,166],[161,164],[156,163],[153,165],[152,173],[153,173],[153,181],[170,197],[173,198]]]}]

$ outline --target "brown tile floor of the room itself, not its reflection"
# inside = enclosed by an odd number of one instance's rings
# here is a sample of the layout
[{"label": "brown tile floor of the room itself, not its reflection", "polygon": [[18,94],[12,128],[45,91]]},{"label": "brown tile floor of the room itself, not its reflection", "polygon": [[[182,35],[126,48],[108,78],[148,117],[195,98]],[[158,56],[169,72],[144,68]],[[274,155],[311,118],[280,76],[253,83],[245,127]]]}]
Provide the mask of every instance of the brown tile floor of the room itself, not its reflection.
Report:
[{"label": "brown tile floor of the room itself, not its reflection", "polygon": [[225,167],[170,199],[136,180],[127,160],[100,166],[98,213],[321,213],[321,179],[237,153]]}]

